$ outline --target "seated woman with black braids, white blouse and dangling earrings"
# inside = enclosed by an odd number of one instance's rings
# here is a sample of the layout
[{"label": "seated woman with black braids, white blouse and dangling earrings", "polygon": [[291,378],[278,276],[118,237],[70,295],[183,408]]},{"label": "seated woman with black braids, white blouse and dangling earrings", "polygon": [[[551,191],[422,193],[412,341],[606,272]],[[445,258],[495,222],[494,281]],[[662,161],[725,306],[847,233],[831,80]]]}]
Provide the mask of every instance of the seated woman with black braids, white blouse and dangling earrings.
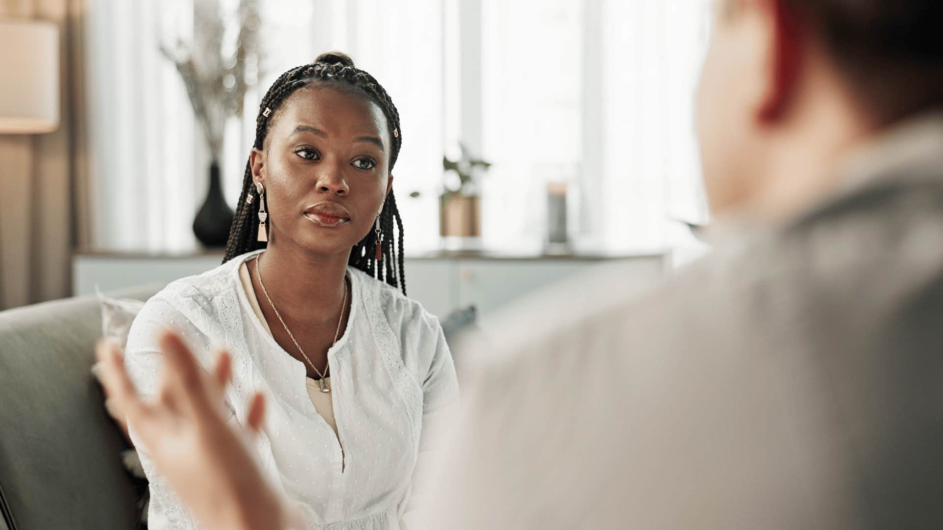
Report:
[{"label": "seated woman with black braids, white blouse and dangling earrings", "polygon": [[[226,415],[245,424],[256,391],[267,397],[255,454],[311,528],[404,527],[430,432],[457,397],[438,320],[405,296],[392,190],[402,140],[387,91],[351,58],[323,54],[278,77],[223,264],[160,291],[127,341],[131,379],[158,400],[170,399],[157,390],[163,330],[207,372],[227,352]],[[150,527],[198,527],[139,450]]]}]

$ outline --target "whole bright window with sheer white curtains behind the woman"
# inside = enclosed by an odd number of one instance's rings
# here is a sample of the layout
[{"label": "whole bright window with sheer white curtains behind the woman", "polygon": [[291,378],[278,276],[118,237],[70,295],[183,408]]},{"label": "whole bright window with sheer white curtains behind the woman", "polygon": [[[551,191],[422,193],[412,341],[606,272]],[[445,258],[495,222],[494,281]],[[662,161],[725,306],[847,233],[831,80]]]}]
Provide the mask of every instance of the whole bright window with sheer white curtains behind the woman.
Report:
[{"label": "whole bright window with sheer white curtains behind the woman", "polygon": [[[206,1],[235,20],[238,0]],[[191,38],[192,2],[102,0],[88,13],[100,248],[196,248],[207,149],[158,51],[161,40]],[[235,206],[273,79],[337,49],[400,110],[394,187],[408,252],[438,246],[441,157],[455,157],[459,141],[494,163],[481,182],[488,248],[539,247],[554,181],[569,185],[586,248],[663,246],[672,220],[706,215],[691,103],[707,2],[259,0],[265,61],[227,129],[223,190]]]}]

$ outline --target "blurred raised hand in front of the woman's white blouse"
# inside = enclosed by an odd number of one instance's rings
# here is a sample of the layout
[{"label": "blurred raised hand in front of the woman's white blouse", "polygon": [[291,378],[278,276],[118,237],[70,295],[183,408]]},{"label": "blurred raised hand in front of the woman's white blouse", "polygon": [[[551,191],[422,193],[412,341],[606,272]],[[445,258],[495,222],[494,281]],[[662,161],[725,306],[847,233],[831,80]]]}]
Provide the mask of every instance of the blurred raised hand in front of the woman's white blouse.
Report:
[{"label": "blurred raised hand in front of the woman's white blouse", "polygon": [[164,367],[156,400],[144,402],[124,371],[120,350],[100,340],[96,356],[113,414],[126,418],[157,470],[210,529],[271,530],[304,524],[266,482],[249,441],[265,417],[256,394],[244,427],[223,415],[223,389],[232,375],[227,353],[207,373],[174,334],[160,340]]}]

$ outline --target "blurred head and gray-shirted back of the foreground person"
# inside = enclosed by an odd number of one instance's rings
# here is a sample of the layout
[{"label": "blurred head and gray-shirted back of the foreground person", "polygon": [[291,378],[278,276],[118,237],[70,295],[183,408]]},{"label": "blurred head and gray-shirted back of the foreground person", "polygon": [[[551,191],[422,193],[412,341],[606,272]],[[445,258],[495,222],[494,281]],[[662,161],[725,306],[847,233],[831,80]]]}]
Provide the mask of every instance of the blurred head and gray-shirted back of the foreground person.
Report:
[{"label": "blurred head and gray-shirted back of the foreground person", "polygon": [[714,253],[506,313],[465,356],[429,528],[943,525],[943,6],[714,9]]}]

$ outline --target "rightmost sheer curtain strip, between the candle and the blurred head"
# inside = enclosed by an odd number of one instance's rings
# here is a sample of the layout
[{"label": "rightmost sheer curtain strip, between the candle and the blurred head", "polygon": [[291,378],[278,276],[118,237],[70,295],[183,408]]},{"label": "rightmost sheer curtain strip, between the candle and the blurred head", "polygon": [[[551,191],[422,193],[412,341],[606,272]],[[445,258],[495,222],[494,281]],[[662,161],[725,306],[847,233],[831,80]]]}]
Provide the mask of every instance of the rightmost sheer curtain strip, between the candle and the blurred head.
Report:
[{"label": "rightmost sheer curtain strip, between the candle and the blurred head", "polygon": [[603,240],[672,246],[705,223],[693,134],[709,0],[603,0]]}]

